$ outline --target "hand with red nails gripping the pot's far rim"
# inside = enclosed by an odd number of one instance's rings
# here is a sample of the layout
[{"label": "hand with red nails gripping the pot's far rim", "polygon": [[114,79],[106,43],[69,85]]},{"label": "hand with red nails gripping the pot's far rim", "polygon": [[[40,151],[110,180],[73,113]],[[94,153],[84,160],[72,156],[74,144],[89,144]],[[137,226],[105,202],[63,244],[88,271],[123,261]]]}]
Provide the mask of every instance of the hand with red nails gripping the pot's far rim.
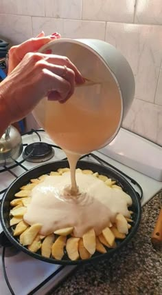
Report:
[{"label": "hand with red nails gripping the pot's far rim", "polygon": [[[22,61],[27,52],[37,52],[43,45],[49,43],[49,41],[60,38],[61,36],[58,33],[45,37],[45,33],[40,32],[36,38],[31,38],[19,45],[12,46],[9,50],[8,74],[16,68],[16,65]],[[50,52],[47,50],[45,53],[51,53],[51,50]]]}]

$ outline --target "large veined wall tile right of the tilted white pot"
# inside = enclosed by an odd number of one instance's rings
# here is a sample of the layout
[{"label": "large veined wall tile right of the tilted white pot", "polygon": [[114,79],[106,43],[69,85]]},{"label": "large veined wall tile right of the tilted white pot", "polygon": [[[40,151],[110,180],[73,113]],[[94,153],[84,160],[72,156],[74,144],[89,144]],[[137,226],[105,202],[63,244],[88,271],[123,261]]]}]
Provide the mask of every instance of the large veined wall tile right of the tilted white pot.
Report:
[{"label": "large veined wall tile right of the tilted white pot", "polygon": [[162,57],[162,26],[107,23],[106,41],[128,59],[135,74],[135,97],[153,103]]}]

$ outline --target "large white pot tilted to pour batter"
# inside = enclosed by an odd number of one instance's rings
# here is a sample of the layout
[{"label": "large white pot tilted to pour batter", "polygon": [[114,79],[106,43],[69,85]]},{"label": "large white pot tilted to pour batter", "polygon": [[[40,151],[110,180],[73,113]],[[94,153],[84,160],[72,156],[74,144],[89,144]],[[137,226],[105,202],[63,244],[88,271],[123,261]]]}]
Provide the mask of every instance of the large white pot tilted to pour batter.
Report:
[{"label": "large white pot tilted to pour batter", "polygon": [[[95,116],[95,123],[100,126],[100,131],[98,128],[92,138],[97,136],[96,132],[99,134],[102,130],[107,130],[107,134],[93,145],[93,150],[104,148],[119,132],[134,98],[135,79],[128,61],[111,44],[95,39],[57,39],[43,45],[39,52],[46,50],[69,58],[94,87],[84,87],[86,83],[81,88],[76,87],[74,96],[66,106],[48,101],[45,97],[34,108],[36,121],[49,133],[55,143],[65,150],[86,154],[92,151],[91,134],[94,132],[93,116]],[[93,116],[89,116],[90,112]],[[60,128],[61,116],[62,120],[65,118],[65,124],[67,118],[70,118],[70,123],[66,124],[64,130]],[[104,120],[98,119],[99,117]],[[86,128],[82,127],[85,126],[85,122],[89,124],[89,134]],[[54,127],[52,133],[49,126]],[[80,134],[84,132],[84,141],[80,141]]]}]

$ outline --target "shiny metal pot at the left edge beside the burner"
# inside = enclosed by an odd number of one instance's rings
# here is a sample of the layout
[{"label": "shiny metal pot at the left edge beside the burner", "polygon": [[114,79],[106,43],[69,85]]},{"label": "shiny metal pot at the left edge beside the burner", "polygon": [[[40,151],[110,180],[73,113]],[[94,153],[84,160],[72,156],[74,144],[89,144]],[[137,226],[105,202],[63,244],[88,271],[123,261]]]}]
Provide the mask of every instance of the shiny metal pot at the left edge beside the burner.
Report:
[{"label": "shiny metal pot at the left edge beside the burner", "polygon": [[9,126],[0,139],[0,166],[8,165],[23,151],[21,134],[12,125]]}]

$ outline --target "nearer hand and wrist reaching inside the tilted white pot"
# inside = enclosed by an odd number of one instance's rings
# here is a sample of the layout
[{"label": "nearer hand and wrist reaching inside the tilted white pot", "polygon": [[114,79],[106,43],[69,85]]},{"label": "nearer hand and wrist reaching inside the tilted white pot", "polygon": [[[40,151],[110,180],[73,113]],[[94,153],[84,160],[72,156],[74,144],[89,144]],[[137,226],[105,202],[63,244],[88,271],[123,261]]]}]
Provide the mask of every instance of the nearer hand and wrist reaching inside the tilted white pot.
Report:
[{"label": "nearer hand and wrist reaching inside the tilted white pot", "polygon": [[8,125],[30,113],[45,96],[65,102],[73,94],[75,83],[84,79],[67,57],[27,53],[19,65],[2,81],[0,98]]}]

